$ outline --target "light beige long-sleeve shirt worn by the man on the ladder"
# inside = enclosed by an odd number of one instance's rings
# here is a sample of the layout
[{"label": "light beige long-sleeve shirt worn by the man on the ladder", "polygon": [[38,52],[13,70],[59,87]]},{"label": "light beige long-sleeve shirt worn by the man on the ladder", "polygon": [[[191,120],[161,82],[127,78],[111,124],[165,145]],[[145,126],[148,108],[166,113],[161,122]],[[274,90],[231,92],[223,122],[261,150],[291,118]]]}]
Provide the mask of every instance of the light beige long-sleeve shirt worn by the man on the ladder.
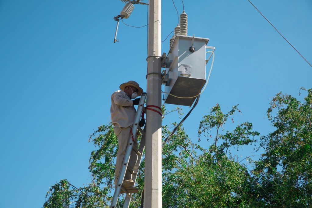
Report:
[{"label": "light beige long-sleeve shirt worn by the man on the ladder", "polygon": [[136,110],[133,101],[124,91],[116,91],[112,94],[110,116],[115,127],[129,127],[133,125]]}]

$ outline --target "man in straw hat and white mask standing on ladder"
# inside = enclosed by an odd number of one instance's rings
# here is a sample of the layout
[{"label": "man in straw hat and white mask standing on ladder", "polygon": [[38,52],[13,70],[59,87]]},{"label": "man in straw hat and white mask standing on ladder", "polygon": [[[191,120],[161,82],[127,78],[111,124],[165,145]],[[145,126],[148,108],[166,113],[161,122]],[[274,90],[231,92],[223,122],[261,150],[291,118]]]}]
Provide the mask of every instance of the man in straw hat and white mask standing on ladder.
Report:
[{"label": "man in straw hat and white mask standing on ladder", "polygon": [[[134,117],[136,114],[136,110],[134,105],[139,105],[140,98],[136,98],[137,96],[141,96],[143,89],[139,87],[139,84],[134,81],[129,81],[120,85],[120,90],[114,92],[111,96],[111,106],[110,106],[110,115],[112,119],[112,123],[114,125],[114,132],[118,137],[118,152],[116,159],[116,169],[115,169],[115,186],[118,181],[119,172],[122,166],[122,162],[124,160],[124,154],[127,149],[127,143],[131,134],[131,128],[133,125]],[[135,99],[136,98],[136,99]],[[131,100],[134,99],[134,100]],[[141,119],[139,122],[139,126],[144,126],[145,121]],[[138,148],[137,137],[134,136],[134,148]],[[132,151],[129,159],[129,164],[131,168],[134,167],[137,162],[137,154]],[[126,171],[124,176],[124,181],[122,186],[129,193],[136,193],[138,189],[136,187],[132,187],[134,185],[134,181],[132,180],[132,174],[129,171]],[[121,190],[120,193],[123,191]]]}]

